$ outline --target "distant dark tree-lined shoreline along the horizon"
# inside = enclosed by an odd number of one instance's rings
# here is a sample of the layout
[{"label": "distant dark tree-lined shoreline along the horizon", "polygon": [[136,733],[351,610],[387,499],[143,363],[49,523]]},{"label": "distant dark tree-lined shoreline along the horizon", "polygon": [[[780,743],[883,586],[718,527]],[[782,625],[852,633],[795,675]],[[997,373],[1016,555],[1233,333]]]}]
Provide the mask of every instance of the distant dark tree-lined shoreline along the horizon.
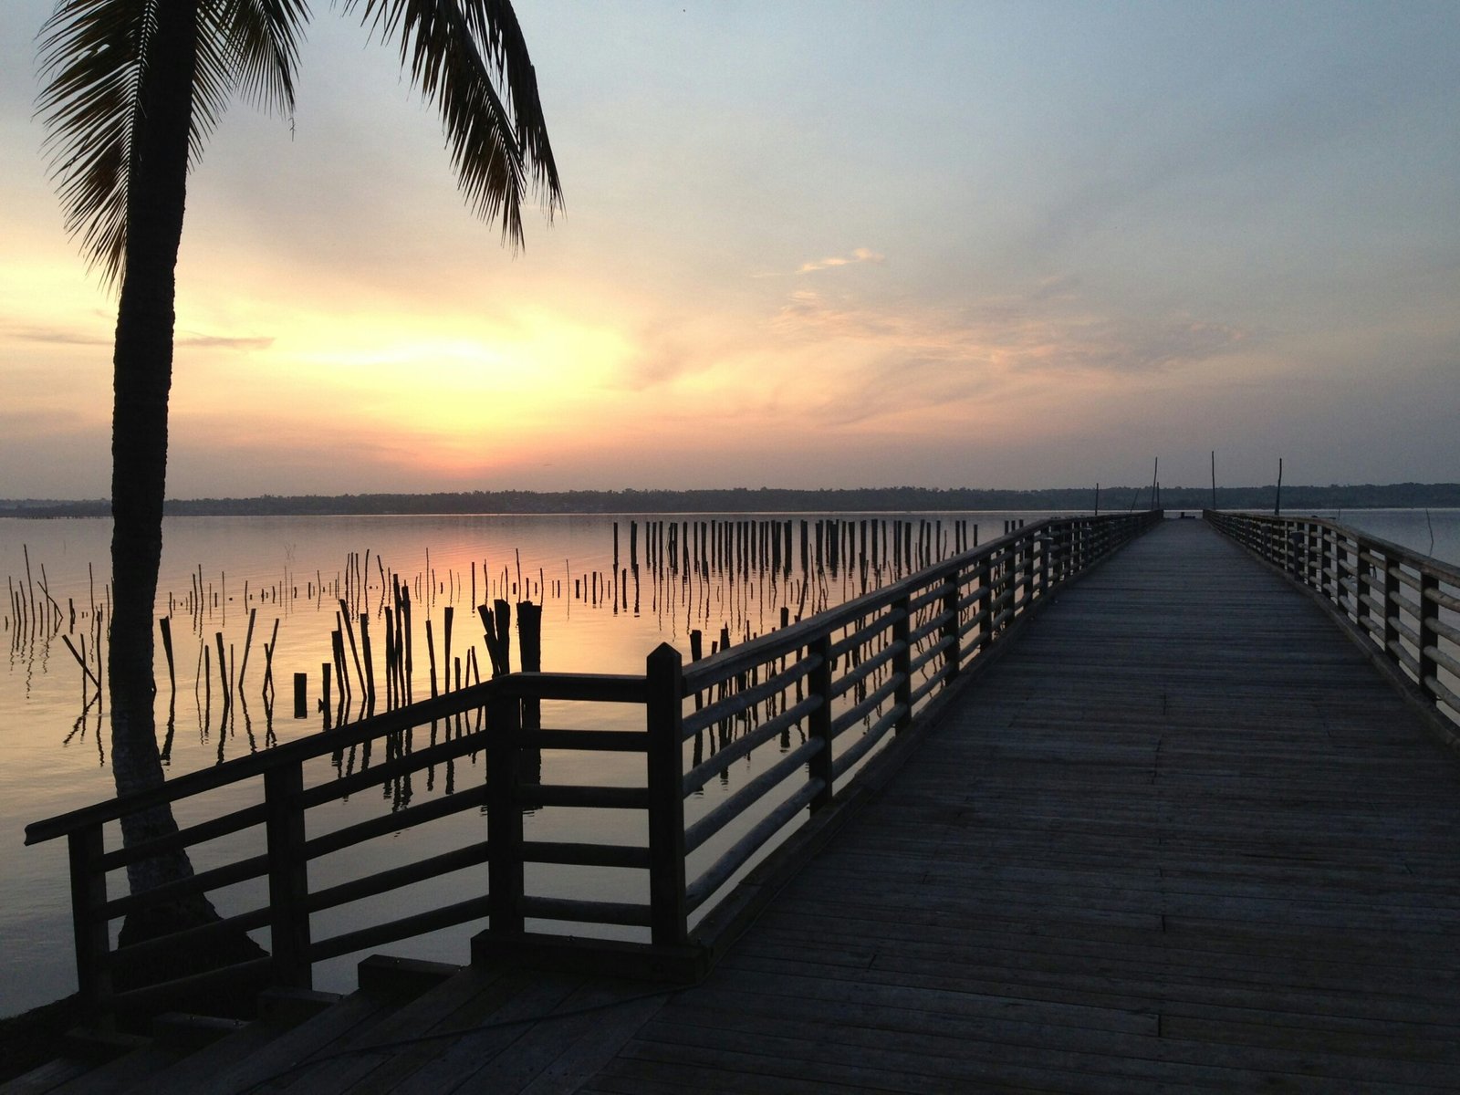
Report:
[{"label": "distant dark tree-lined shoreline along the horizon", "polygon": [[[1219,486],[1219,510],[1270,510],[1275,486]],[[1150,505],[1149,486],[1101,488],[1099,510]],[[1212,505],[1210,488],[1161,488],[1167,510]],[[1419,510],[1460,507],[1460,483],[1388,483],[1361,486],[1283,486],[1282,508]],[[466,491],[438,493],[263,495],[196,498],[166,502],[169,517],[350,517],[425,514],[764,514],[764,512],[948,512],[1095,508],[1095,488],[988,491],[972,488],[847,488],[793,491],[734,488],[717,491]],[[108,517],[105,498],[86,501],[0,499],[0,517]]]}]

